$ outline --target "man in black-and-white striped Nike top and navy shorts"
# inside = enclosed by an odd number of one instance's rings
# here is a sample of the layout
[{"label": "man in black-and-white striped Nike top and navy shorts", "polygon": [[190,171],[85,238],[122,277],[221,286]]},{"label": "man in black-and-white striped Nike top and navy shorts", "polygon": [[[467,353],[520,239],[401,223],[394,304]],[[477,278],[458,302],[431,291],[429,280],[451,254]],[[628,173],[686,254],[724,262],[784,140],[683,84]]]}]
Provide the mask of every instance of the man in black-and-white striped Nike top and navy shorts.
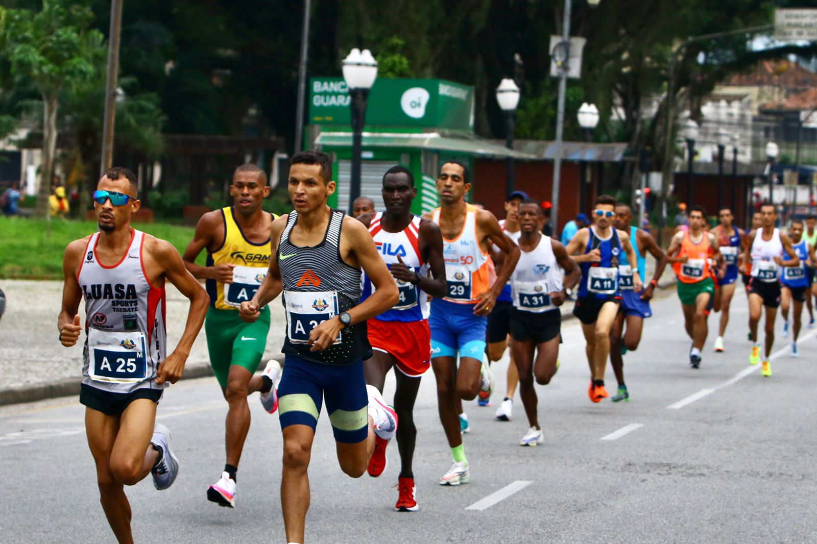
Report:
[{"label": "man in black-and-white striped Nike top and navy shorts", "polygon": [[[372,356],[366,319],[397,304],[399,292],[366,227],[326,204],[335,192],[332,158],[301,151],[289,163],[295,209],[273,221],[270,268],[252,301],[242,302],[239,311],[243,319],[258,319],[260,309],[283,288],[281,508],[287,542],[302,543],[310,502],[307,469],[322,401],[332,422],[337,461],[353,478],[366,471],[374,432],[388,440],[397,429],[395,412],[376,387],[366,386],[363,359]],[[361,268],[376,291],[359,304]]]}]

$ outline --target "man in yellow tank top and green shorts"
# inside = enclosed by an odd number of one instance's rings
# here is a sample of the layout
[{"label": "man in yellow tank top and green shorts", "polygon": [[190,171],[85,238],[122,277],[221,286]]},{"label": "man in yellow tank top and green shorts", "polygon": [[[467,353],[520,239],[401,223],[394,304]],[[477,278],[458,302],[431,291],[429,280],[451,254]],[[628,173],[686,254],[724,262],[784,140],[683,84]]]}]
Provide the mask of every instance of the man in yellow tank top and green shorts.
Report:
[{"label": "man in yellow tank top and green shorts", "polygon": [[[264,377],[253,377],[270,332],[270,309],[261,310],[261,319],[255,323],[245,323],[238,312],[241,303],[255,294],[270,265],[267,250],[275,216],[261,210],[261,201],[269,194],[266,173],[260,167],[237,167],[230,185],[235,205],[205,213],[184,255],[187,270],[196,279],[207,281],[210,308],[204,331],[210,366],[230,407],[225,421],[226,464],[221,479],[208,488],[207,496],[230,508],[235,506],[235,473],[250,429],[247,395],[261,391],[261,404],[267,412],[275,412],[278,407],[273,383],[279,363],[270,360]],[[205,248],[207,265],[199,266],[195,260]]]}]

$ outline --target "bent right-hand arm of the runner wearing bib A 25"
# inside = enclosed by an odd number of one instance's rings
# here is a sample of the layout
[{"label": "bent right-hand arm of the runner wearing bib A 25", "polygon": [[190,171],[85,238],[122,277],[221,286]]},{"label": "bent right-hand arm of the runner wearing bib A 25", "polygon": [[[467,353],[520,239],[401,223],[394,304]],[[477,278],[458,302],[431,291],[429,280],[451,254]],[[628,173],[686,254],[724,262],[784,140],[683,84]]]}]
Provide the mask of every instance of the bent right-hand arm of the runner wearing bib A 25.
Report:
[{"label": "bent right-hand arm of the runner wearing bib A 25", "polygon": [[201,283],[185,268],[179,252],[171,243],[150,236],[145,240],[145,250],[150,252],[150,256],[162,267],[165,279],[190,301],[185,332],[182,332],[176,349],[159,363],[156,371],[158,385],[162,385],[165,381],[176,383],[181,378],[181,373],[184,372],[185,361],[204,324],[210,297],[204,291]]}]

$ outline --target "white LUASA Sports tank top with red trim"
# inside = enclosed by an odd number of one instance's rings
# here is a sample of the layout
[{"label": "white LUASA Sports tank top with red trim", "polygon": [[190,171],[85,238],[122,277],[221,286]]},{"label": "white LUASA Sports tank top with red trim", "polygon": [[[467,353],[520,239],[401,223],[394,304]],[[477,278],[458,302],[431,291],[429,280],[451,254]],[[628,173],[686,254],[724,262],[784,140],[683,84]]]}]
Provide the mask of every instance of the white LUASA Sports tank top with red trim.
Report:
[{"label": "white LUASA Sports tank top with red trim", "polygon": [[134,229],[127,251],[111,266],[96,259],[99,237],[88,240],[77,273],[87,314],[83,384],[113,393],[163,389],[167,384],[154,379],[167,344],[165,295],[145,275],[145,233]]}]

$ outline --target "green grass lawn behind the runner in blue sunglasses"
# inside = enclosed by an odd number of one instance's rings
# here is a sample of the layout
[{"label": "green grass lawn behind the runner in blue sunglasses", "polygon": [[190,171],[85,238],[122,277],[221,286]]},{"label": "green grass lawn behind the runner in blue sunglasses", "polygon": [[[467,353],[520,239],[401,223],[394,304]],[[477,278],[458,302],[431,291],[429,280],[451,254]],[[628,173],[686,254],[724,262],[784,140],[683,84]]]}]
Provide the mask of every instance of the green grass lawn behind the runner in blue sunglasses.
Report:
[{"label": "green grass lawn behind the runner in blue sunglasses", "polygon": [[[172,243],[181,253],[193,238],[193,227],[134,224],[157,238]],[[71,241],[96,232],[96,221],[47,221],[22,217],[0,216],[0,278],[2,279],[62,279],[62,256]],[[196,260],[204,265],[206,252]]]}]

